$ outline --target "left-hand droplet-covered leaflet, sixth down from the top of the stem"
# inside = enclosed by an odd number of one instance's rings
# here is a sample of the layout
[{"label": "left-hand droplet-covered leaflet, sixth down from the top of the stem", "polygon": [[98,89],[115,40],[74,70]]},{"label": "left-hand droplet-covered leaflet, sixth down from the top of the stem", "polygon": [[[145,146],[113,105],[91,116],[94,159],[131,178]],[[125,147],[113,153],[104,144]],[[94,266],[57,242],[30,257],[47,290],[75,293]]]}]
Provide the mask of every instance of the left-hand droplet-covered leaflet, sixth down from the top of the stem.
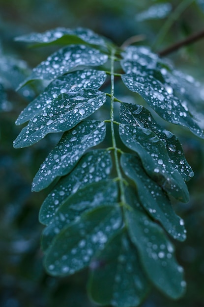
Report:
[{"label": "left-hand droplet-covered leaflet, sixth down from the top of the stem", "polygon": [[58,207],[72,194],[90,183],[107,179],[111,173],[111,155],[106,150],[86,153],[67,176],[62,177],[43,202],[39,220],[48,225]]}]

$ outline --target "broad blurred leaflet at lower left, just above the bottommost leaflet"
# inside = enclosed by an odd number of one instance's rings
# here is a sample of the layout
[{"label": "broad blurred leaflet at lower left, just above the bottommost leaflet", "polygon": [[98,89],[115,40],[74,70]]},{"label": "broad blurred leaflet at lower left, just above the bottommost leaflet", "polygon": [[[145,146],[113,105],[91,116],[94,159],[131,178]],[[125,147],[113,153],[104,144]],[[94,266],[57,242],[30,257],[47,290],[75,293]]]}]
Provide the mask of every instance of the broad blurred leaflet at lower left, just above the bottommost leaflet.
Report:
[{"label": "broad blurred leaflet at lower left, just above the bottommost leaflet", "polygon": [[98,250],[122,224],[120,208],[114,205],[85,212],[55,236],[45,254],[44,265],[49,274],[68,276],[87,267]]}]

